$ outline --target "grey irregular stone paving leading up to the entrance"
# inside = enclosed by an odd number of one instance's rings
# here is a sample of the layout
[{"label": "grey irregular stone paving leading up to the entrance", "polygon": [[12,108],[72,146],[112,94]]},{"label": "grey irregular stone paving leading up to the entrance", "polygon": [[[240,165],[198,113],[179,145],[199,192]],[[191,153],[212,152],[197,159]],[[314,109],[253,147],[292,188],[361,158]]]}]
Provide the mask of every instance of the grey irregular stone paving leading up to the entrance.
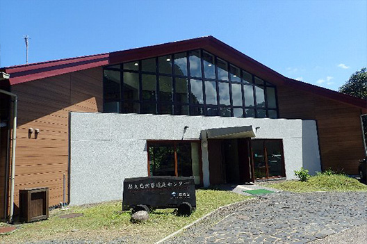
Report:
[{"label": "grey irregular stone paving leading up to the entrance", "polygon": [[[282,192],[261,198],[197,231],[204,233],[191,236],[190,243],[307,243],[367,223],[366,192]],[[188,243],[187,237],[183,233],[174,243]]]}]

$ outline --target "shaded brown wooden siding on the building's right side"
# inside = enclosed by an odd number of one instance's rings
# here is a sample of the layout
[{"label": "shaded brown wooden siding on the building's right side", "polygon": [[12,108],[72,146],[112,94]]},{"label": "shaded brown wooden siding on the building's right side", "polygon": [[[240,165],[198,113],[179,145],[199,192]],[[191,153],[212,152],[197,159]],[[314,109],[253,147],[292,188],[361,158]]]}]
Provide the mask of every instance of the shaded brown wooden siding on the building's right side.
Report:
[{"label": "shaded brown wooden siding on the building's right side", "polygon": [[317,121],[323,170],[357,174],[364,157],[361,108],[287,87],[277,93],[280,117]]}]

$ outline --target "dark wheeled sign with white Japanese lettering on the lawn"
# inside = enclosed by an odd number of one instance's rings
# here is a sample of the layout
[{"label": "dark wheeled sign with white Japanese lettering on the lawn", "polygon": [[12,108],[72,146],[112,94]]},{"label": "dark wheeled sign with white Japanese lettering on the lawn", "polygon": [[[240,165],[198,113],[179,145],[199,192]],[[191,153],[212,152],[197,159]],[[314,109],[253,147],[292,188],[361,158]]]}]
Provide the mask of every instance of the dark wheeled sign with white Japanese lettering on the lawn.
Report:
[{"label": "dark wheeled sign with white Japanese lettering on the lawn", "polygon": [[[145,206],[179,208],[184,215],[196,208],[194,177],[139,177],[124,180],[122,210]],[[141,210],[141,209],[139,209]]]}]

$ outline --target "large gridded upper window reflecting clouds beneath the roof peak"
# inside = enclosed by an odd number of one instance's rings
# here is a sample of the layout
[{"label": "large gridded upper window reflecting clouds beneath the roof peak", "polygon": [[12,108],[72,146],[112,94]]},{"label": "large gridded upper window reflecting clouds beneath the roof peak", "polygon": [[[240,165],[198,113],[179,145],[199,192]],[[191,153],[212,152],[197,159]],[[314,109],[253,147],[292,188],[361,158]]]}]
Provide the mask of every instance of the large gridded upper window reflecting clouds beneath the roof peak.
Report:
[{"label": "large gridded upper window reflecting clouds beneath the roof peak", "polygon": [[277,88],[197,49],[104,67],[104,112],[276,118]]}]

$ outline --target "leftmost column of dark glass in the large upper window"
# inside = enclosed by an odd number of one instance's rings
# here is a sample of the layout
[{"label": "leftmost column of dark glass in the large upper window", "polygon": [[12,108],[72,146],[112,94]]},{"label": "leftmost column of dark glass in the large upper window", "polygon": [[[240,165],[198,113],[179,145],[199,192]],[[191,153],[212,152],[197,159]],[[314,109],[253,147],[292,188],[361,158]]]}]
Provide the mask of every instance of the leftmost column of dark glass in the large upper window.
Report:
[{"label": "leftmost column of dark glass in the large upper window", "polygon": [[[117,105],[120,101],[120,71],[104,70],[104,101],[106,103],[105,112],[120,112]],[[116,104],[117,102],[117,104]]]}]

